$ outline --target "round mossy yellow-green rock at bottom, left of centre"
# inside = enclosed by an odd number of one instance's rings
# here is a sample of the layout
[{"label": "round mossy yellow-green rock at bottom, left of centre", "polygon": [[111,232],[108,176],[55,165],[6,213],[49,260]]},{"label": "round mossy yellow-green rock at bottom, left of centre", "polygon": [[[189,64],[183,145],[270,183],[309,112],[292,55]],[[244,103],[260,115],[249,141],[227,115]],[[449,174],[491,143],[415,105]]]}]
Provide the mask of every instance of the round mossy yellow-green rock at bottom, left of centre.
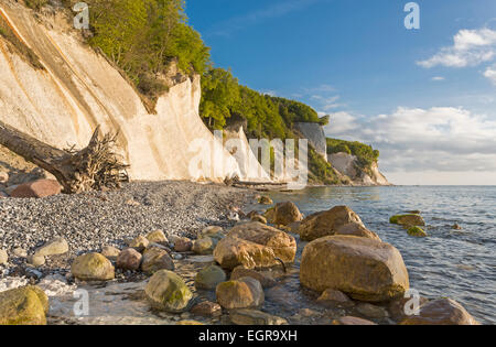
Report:
[{"label": "round mossy yellow-green rock at bottom, left of centre", "polygon": [[169,270],[155,272],[144,293],[153,308],[180,313],[187,308],[193,293],[177,274]]}]

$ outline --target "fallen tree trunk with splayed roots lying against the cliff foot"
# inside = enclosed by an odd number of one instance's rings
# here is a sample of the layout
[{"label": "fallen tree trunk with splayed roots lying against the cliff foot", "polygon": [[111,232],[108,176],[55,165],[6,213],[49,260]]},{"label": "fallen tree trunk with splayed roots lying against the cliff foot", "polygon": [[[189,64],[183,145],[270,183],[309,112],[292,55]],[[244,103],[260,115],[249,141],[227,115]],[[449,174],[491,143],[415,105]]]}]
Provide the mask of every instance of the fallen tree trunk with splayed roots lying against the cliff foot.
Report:
[{"label": "fallen tree trunk with splayed roots lying against the cliff foot", "polygon": [[129,166],[114,152],[116,138],[101,137],[98,126],[85,149],[60,150],[0,121],[0,144],[52,173],[66,194],[119,188],[129,181]]}]

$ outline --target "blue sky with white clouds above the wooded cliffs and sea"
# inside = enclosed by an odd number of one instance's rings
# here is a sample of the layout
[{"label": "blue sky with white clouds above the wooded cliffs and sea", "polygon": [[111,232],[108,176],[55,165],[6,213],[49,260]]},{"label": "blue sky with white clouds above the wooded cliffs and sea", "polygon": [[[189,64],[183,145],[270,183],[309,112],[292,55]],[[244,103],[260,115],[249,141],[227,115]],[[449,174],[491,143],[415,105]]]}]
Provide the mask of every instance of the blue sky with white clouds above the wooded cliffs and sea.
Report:
[{"label": "blue sky with white clouds above the wooded cliffs and sea", "polygon": [[[397,184],[496,184],[496,1],[188,0],[190,23],[254,89],[332,115]],[[475,173],[473,173],[475,172]]]}]

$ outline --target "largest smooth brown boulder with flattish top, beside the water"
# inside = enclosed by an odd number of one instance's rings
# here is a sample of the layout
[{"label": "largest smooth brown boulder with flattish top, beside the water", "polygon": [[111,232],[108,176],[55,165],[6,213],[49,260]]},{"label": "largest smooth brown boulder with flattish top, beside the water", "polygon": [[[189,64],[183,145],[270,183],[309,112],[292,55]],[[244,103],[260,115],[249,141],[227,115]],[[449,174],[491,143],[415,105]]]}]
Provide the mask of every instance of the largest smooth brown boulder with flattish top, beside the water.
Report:
[{"label": "largest smooth brown boulder with flattish top, beside the water", "polygon": [[395,247],[354,236],[330,236],[306,245],[300,281],[319,292],[334,289],[369,302],[389,301],[409,289],[407,268]]}]

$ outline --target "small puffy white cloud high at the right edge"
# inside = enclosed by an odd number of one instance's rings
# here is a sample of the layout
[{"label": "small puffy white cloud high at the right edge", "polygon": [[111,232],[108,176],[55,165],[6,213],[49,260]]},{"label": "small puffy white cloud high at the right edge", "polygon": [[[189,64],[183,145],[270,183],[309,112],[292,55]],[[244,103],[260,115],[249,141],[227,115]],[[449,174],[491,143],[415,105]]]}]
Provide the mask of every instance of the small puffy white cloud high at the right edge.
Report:
[{"label": "small puffy white cloud high at the right edge", "polygon": [[453,37],[453,45],[443,47],[435,55],[418,65],[431,68],[438,65],[448,67],[476,66],[496,57],[496,31],[461,30]]}]

